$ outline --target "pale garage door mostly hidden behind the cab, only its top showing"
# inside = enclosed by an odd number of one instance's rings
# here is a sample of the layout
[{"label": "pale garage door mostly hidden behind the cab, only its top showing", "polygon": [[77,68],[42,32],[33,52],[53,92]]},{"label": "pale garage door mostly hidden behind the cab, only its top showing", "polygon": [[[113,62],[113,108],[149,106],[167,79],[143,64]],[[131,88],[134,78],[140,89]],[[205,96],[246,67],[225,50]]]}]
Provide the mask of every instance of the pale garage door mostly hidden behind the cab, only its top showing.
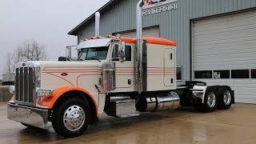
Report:
[{"label": "pale garage door mostly hidden behind the cab, only its top showing", "polygon": [[[143,37],[159,37],[160,31],[158,26],[145,28],[142,31]],[[120,32],[118,34],[121,34],[121,37],[129,37],[129,38],[136,38],[136,31],[127,31],[127,32]],[[114,34],[115,35],[115,34]]]}]

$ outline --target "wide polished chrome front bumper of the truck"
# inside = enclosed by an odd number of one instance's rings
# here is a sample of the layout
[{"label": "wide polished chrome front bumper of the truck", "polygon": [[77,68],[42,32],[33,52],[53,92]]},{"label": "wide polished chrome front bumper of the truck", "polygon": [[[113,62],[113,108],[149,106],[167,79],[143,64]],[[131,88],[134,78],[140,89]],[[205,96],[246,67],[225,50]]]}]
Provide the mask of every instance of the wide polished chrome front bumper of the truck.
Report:
[{"label": "wide polished chrome front bumper of the truck", "polygon": [[30,126],[46,129],[48,110],[8,103],[7,118]]}]

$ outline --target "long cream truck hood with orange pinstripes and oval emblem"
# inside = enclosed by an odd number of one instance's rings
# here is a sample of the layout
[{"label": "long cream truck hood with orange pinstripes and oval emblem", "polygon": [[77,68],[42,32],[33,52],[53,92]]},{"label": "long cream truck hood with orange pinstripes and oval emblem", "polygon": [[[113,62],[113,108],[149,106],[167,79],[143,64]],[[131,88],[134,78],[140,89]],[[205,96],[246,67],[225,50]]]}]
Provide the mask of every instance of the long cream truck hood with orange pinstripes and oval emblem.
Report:
[{"label": "long cream truck hood with orange pinstripes and oval emblem", "polygon": [[95,89],[101,74],[101,62],[19,62],[16,67],[40,67],[41,87],[58,89],[64,86],[79,86]]}]

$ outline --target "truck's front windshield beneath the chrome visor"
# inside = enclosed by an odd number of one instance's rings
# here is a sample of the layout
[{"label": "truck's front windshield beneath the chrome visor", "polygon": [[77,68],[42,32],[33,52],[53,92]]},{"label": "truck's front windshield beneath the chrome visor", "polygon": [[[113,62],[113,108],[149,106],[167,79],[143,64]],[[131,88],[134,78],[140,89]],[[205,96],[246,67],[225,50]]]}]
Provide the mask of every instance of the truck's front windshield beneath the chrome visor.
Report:
[{"label": "truck's front windshield beneath the chrome visor", "polygon": [[84,48],[81,49],[78,54],[78,61],[85,60],[103,60],[106,59],[108,46],[94,47],[94,48]]}]

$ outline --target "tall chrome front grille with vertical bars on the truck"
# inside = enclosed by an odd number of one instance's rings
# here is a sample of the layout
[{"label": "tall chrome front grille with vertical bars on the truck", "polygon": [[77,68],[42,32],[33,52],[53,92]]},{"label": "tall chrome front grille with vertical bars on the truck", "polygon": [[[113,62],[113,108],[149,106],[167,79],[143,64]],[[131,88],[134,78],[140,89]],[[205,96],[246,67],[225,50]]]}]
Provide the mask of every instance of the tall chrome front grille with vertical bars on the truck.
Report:
[{"label": "tall chrome front grille with vertical bars on the truck", "polygon": [[16,102],[23,105],[34,103],[35,95],[34,67],[19,67],[15,74]]}]

